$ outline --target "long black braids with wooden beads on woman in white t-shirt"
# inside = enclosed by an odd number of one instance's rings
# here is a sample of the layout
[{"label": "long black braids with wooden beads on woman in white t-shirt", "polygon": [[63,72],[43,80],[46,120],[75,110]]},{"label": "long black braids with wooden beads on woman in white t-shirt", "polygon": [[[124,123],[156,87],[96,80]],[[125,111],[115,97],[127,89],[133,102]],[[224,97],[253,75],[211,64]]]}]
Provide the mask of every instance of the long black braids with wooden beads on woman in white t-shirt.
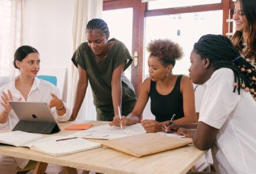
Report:
[{"label": "long black braids with wooden beads on woman in white t-shirt", "polygon": [[250,91],[256,100],[256,73],[238,50],[232,45],[228,37],[222,35],[204,35],[194,44],[194,50],[200,54],[201,59],[208,58],[217,69],[222,67],[231,69],[234,72],[234,92],[244,88]]}]

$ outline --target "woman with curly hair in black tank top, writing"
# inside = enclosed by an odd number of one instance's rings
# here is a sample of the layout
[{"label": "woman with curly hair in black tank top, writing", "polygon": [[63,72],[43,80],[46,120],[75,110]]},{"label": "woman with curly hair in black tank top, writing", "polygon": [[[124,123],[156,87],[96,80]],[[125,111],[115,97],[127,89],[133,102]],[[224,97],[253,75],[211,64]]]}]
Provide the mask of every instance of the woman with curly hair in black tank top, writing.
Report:
[{"label": "woman with curly hair in black tank top, writing", "polygon": [[115,117],[110,125],[131,125],[139,121],[148,98],[151,98],[151,112],[155,120],[142,120],[147,132],[162,131],[169,125],[171,117],[174,122],[195,122],[194,90],[187,76],[172,74],[175,62],[182,57],[181,47],[169,39],[158,39],[149,43],[148,67],[149,77],[144,80],[137,103],[127,116]]}]

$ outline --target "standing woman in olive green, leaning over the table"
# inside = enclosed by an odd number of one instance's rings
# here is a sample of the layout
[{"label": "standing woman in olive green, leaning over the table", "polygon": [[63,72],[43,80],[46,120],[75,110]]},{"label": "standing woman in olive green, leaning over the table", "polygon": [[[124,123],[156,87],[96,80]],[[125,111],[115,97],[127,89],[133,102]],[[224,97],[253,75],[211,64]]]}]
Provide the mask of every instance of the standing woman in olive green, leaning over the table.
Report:
[{"label": "standing woman in olive green, leaning over the table", "polygon": [[[75,51],[72,62],[78,67],[79,79],[71,120],[77,118],[88,86],[91,84],[97,120],[112,121],[118,115],[128,115],[137,100],[134,87],[123,72],[132,63],[124,43],[109,39],[107,23],[92,19],[87,24],[87,40]],[[108,40],[109,39],[109,40]]]}]

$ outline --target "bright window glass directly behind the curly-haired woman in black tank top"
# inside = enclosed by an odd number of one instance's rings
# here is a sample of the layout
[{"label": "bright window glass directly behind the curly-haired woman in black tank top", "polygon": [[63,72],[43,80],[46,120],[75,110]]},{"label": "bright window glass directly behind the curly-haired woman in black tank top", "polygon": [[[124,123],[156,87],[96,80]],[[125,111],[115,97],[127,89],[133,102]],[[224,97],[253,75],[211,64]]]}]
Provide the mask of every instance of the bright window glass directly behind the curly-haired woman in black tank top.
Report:
[{"label": "bright window glass directly behind the curly-haired woman in black tank top", "polygon": [[[167,22],[168,21],[168,22]],[[181,13],[146,18],[145,46],[154,39],[171,39],[179,43],[184,56],[177,60],[173,73],[188,75],[190,53],[202,35],[222,33],[222,11]],[[145,51],[144,79],[148,76],[148,56]]]}]

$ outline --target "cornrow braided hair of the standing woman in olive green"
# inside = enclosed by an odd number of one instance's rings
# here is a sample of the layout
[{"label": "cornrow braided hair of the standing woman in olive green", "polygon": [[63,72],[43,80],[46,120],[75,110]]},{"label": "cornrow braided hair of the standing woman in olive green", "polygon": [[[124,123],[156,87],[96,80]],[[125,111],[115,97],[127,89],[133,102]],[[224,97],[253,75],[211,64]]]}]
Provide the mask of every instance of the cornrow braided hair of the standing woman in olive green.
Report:
[{"label": "cornrow braided hair of the standing woman in olive green", "polygon": [[88,32],[88,30],[94,30],[94,29],[102,30],[102,32],[105,35],[108,35],[108,33],[109,33],[108,25],[102,19],[92,19],[91,21],[89,21],[87,23],[87,32]]}]

